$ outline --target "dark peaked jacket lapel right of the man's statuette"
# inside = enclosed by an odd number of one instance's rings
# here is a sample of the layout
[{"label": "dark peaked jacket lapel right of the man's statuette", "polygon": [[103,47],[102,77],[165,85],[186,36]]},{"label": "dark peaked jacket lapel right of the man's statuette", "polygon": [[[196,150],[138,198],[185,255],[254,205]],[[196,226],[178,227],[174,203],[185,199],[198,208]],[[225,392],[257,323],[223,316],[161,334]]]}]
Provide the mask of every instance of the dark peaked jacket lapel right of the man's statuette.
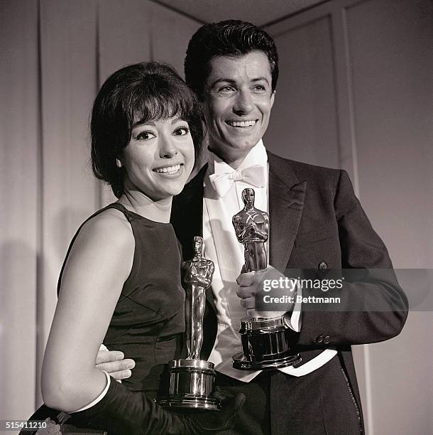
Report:
[{"label": "dark peaked jacket lapel right of the man's statuette", "polygon": [[269,263],[284,272],[304,208],[307,181],[299,181],[287,160],[268,152]]}]

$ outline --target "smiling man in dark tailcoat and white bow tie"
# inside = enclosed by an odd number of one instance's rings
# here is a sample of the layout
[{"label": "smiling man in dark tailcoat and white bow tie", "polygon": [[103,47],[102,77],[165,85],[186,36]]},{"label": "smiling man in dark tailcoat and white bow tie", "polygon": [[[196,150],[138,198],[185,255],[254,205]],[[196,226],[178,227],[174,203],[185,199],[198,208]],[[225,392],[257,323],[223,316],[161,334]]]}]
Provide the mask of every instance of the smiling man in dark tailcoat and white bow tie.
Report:
[{"label": "smiling man in dark tailcoat and white bow tie", "polygon": [[[190,40],[185,77],[203,102],[211,152],[209,164],[175,198],[172,224],[185,258],[192,257],[192,238],[202,235],[205,256],[215,263],[212,289],[207,291],[202,358],[210,355],[219,370],[217,383],[227,392],[246,394],[235,431],[227,433],[362,432],[351,344],[400,333],[407,300],[393,274],[345,283],[341,289],[356,306],[368,300],[380,312],[302,308],[302,326],[293,340],[302,356],[300,367],[285,372],[234,370],[230,355],[239,351],[239,318],[245,316],[244,309],[256,308],[258,290],[253,272],[238,277],[243,247],[236,241],[231,218],[242,208],[240,192],[253,188],[257,208],[270,216],[270,266],[280,272],[391,269],[385,246],[363,213],[346,172],[265,151],[262,137],[278,80],[278,55],[267,33],[242,21],[202,26]],[[256,172],[253,181],[243,176],[249,168]],[[289,324],[297,330],[300,321],[291,317]]]}]

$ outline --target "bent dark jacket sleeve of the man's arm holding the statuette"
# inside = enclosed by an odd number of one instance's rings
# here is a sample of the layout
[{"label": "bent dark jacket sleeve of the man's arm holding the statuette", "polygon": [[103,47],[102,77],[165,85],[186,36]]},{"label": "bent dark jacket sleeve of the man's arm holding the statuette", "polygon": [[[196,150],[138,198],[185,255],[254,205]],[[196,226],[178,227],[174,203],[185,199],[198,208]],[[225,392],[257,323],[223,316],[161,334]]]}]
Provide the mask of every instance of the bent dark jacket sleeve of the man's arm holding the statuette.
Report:
[{"label": "bent dark jacket sleeve of the man's arm holding the statuette", "polygon": [[[341,171],[334,198],[339,230],[340,289],[312,291],[305,296],[339,297],[339,304],[303,305],[298,345],[375,343],[398,335],[407,318],[407,298],[393,271],[388,251],[371,227],[346,171]],[[326,279],[330,272],[315,272]],[[319,295],[320,293],[320,295]]]}]

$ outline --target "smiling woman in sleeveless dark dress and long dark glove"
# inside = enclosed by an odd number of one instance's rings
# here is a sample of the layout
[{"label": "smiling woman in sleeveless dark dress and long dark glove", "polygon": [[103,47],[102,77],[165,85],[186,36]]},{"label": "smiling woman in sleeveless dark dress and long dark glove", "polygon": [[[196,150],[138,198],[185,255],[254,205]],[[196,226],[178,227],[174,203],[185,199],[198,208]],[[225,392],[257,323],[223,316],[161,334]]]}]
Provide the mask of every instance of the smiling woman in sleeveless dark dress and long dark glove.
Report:
[{"label": "smiling woman in sleeveless dark dress and long dark glove", "polygon": [[[202,140],[197,100],[168,65],[130,65],[99,91],[91,132],[94,173],[119,199],[84,222],[67,252],[43,362],[45,404],[72,414],[67,423],[109,434],[224,429],[243,397],[188,416],[152,400],[185,328],[170,210]],[[103,342],[136,360],[125,382],[135,393],[94,367]]]}]

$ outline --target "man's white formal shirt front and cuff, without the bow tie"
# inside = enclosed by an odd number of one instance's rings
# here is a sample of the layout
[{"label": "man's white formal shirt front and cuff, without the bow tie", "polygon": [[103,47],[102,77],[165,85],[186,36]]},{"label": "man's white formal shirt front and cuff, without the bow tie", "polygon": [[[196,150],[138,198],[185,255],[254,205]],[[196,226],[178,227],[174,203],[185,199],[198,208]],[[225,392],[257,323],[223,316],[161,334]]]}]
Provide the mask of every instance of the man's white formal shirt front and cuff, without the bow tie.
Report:
[{"label": "man's white formal shirt front and cuff, without the bow tie", "polygon": [[[259,141],[248,153],[236,171],[260,165],[265,172],[264,186],[251,186],[243,180],[234,181],[223,198],[219,198],[209,176],[218,173],[235,172],[227,163],[209,152],[209,167],[204,176],[203,195],[203,239],[204,255],[215,265],[212,279],[212,293],[217,308],[217,339],[209,356],[209,361],[215,364],[215,370],[224,375],[234,377],[243,382],[249,382],[260,371],[236,370],[232,367],[232,356],[241,352],[241,337],[239,335],[240,320],[246,317],[241,300],[236,295],[236,278],[241,272],[244,261],[243,245],[236,238],[231,219],[243,208],[241,193],[244,188],[253,188],[256,193],[255,207],[268,212],[268,154],[263,141]],[[272,227],[270,227],[272,232]],[[269,252],[267,242],[267,252]],[[298,289],[298,294],[300,290]],[[287,319],[286,319],[287,320]],[[300,328],[300,306],[295,309],[290,318],[290,325],[295,331]],[[283,367],[279,370],[289,375],[303,376],[327,363],[336,355],[336,350],[324,350],[316,358],[300,367]]]}]

